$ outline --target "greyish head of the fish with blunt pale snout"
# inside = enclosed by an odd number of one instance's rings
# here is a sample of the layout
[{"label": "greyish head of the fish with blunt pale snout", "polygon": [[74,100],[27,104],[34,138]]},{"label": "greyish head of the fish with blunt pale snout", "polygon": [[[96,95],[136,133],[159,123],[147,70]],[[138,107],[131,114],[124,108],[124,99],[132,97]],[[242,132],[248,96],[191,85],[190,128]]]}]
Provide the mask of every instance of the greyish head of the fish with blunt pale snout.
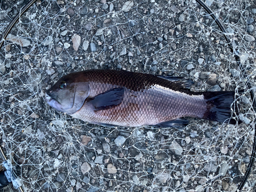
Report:
[{"label": "greyish head of the fish with blunt pale snout", "polygon": [[81,73],[70,73],[61,77],[49,90],[44,99],[55,110],[73,114],[90,95],[90,84]]}]

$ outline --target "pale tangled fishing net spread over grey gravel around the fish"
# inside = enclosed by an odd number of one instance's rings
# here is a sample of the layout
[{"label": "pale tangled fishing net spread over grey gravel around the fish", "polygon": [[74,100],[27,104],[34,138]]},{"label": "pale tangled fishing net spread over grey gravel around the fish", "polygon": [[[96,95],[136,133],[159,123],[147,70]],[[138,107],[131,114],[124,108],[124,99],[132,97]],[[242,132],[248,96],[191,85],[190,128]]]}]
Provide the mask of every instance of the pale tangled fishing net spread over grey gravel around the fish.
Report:
[{"label": "pale tangled fishing net spread over grey gravel around the fish", "polygon": [[[0,31],[27,3],[0,3]],[[236,191],[253,145],[247,83],[255,85],[256,5],[206,4],[237,45],[240,67],[194,0],[38,0],[19,18],[0,53],[0,132],[25,191]],[[181,76],[195,82],[195,92],[236,91],[243,123],[188,118],[183,129],[104,127],[44,101],[61,76],[89,69]],[[254,166],[244,191],[255,190],[255,178]]]}]

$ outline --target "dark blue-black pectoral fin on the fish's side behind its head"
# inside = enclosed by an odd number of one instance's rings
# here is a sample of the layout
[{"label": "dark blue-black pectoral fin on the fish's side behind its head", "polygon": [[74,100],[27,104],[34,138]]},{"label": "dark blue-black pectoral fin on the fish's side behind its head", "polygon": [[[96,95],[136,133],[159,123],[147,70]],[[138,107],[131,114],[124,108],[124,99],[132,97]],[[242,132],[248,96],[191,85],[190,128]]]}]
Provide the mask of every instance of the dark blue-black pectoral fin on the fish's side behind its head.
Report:
[{"label": "dark blue-black pectoral fin on the fish's side behind its head", "polygon": [[94,106],[95,111],[108,110],[121,104],[124,95],[124,88],[114,88],[104,93],[101,93],[93,98],[90,98],[89,102]]}]

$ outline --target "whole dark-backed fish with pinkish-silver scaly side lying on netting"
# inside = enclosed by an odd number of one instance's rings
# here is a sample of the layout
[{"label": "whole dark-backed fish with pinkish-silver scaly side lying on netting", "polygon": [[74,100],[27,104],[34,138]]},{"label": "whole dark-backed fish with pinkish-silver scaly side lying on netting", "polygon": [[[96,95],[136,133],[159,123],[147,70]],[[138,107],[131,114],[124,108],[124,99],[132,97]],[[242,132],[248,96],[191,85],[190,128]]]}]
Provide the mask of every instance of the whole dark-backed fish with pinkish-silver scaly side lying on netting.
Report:
[{"label": "whole dark-backed fish with pinkish-silver scaly side lying on netting", "polygon": [[59,112],[105,126],[180,127],[186,117],[241,123],[234,91],[193,92],[192,84],[182,77],[87,70],[61,77],[44,99]]}]

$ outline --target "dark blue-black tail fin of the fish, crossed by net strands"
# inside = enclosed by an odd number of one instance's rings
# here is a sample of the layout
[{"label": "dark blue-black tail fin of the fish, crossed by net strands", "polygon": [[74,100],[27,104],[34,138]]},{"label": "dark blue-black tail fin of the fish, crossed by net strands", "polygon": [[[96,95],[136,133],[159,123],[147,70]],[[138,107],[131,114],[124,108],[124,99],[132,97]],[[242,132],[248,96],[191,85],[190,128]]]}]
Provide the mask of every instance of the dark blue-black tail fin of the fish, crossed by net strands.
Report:
[{"label": "dark blue-black tail fin of the fish, crossed by net strands", "polygon": [[203,119],[230,124],[242,122],[237,117],[239,107],[238,103],[234,102],[233,91],[204,92],[203,95],[207,103],[207,112],[205,112]]}]

